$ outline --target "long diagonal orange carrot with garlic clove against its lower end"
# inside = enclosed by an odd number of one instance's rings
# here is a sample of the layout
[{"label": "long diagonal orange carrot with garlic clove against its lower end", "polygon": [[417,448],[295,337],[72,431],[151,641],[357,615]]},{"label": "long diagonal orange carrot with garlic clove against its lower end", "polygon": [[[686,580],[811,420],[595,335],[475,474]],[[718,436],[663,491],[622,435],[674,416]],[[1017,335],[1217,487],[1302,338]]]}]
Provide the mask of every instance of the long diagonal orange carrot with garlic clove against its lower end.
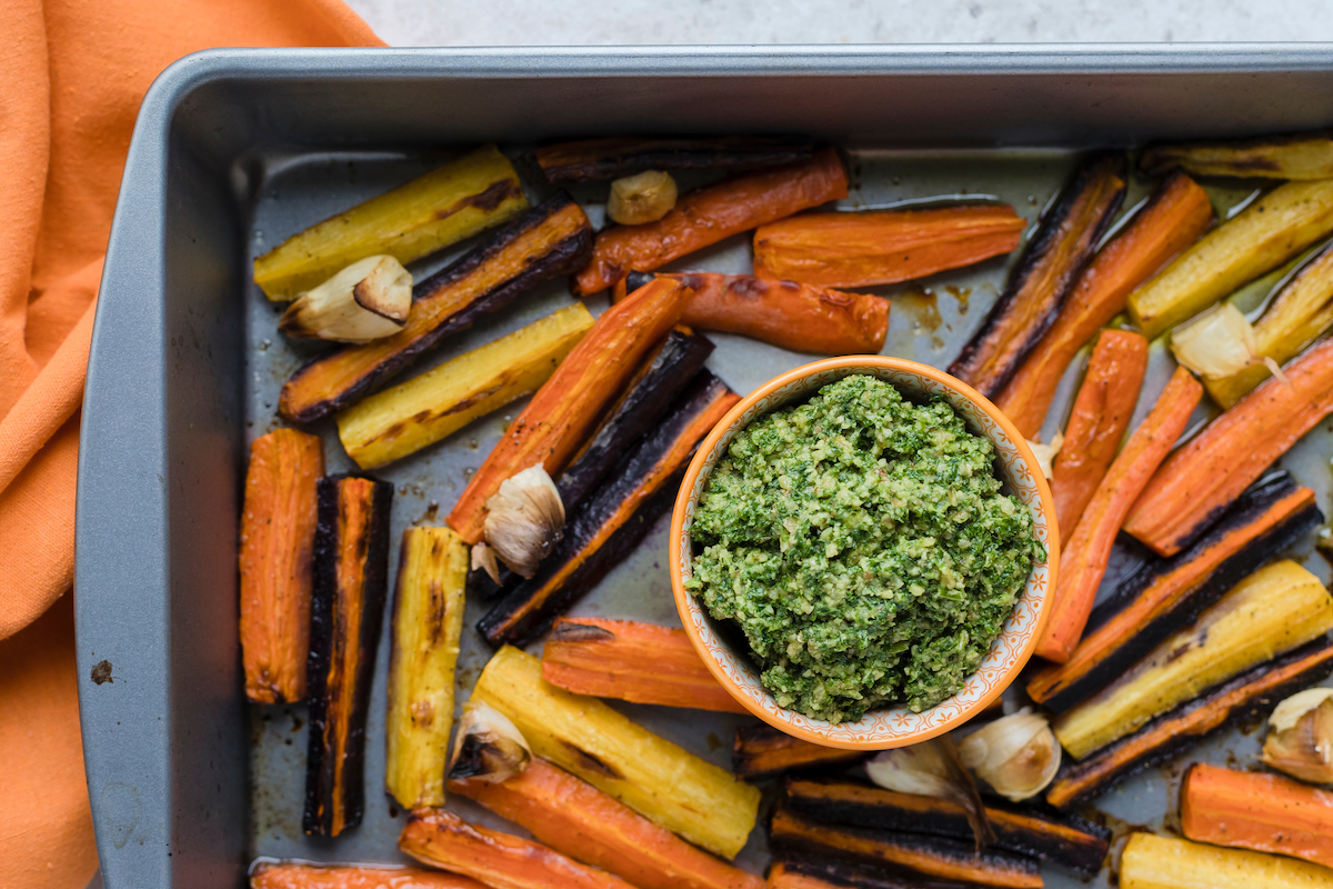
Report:
[{"label": "long diagonal orange carrot with garlic clove against its lower end", "polygon": [[449,526],[476,544],[487,498],[500,482],[537,462],[559,476],[648,349],[680,320],[688,299],[680,283],[655,281],[603,312],[472,476],[447,518]]}]

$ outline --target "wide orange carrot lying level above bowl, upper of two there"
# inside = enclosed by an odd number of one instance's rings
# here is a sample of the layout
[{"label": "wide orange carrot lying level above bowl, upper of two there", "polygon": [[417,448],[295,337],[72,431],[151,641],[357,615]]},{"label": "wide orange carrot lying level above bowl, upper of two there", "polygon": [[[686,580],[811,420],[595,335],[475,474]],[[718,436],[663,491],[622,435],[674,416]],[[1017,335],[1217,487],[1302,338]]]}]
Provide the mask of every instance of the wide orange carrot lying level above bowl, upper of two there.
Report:
[{"label": "wide orange carrot lying level above bowl, upper of two there", "polygon": [[1018,247],[1012,207],[808,213],[754,232],[754,275],[820,287],[870,287],[972,265]]}]

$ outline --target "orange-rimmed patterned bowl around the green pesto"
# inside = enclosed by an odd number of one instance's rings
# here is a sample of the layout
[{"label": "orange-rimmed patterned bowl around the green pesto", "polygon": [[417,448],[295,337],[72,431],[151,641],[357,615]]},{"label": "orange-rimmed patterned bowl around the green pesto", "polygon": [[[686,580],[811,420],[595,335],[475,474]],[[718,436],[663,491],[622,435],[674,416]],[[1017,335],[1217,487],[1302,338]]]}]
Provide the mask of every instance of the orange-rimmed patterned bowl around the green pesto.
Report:
[{"label": "orange-rimmed patterned bowl around the green pesto", "polygon": [[[716,633],[706,609],[685,589],[684,578],[692,573],[689,529],[694,508],[709,472],[736,433],[756,417],[853,373],[870,373],[909,396],[944,396],[962,415],[972,432],[990,439],[1000,458],[1002,480],[1033,510],[1036,533],[1046,546],[1048,561],[1033,566],[1028,585],[1000,637],[957,694],[921,713],[906,708],[880,709],[866,713],[857,722],[830,725],[778,706],[760,682],[758,670],[746,654],[733,649]],[[741,399],[694,454],[672,514],[670,565],[676,609],[694,649],[713,676],[742,706],[773,728],[813,744],[842,749],[886,750],[916,744],[957,728],[980,713],[1009,686],[1028,662],[1046,622],[1046,602],[1054,590],[1056,566],[1060,564],[1054,514],[1050,489],[1028,443],[1008,417],[976,389],[942,371],[904,359],[849,356],[816,361],[789,371]]]}]

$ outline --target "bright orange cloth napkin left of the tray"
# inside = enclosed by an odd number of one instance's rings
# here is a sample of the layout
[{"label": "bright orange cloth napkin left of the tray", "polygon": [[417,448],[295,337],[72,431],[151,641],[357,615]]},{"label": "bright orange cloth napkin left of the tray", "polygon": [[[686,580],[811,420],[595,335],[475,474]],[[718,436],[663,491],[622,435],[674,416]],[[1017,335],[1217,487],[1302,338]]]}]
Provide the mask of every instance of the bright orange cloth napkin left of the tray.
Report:
[{"label": "bright orange cloth napkin left of the tray", "polygon": [[75,470],[139,103],[208,47],[381,47],[340,0],[0,0],[0,886],[97,866],[79,741]]}]

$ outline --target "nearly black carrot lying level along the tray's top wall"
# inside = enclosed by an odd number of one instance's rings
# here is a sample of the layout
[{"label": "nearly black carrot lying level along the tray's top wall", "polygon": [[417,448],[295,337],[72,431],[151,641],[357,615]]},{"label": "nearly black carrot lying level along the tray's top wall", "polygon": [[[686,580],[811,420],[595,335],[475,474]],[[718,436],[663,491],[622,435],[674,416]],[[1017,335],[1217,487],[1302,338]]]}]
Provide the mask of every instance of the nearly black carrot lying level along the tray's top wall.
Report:
[{"label": "nearly black carrot lying level along the tray's top wall", "polygon": [[764,169],[805,161],[813,153],[812,140],[793,136],[613,136],[544,145],[537,149],[537,165],[549,183],[587,183],[620,179],[647,169]]}]

